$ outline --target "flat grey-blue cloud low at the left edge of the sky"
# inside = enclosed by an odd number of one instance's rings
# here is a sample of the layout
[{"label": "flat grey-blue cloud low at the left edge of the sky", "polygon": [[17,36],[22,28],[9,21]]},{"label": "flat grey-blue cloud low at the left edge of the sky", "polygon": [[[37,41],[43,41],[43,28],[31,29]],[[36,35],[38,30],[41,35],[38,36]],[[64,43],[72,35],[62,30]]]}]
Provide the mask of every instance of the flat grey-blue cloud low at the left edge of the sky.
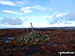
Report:
[{"label": "flat grey-blue cloud low at the left edge of the sky", "polygon": [[20,18],[10,18],[10,17],[4,17],[2,20],[0,20],[0,24],[4,25],[21,25],[23,21]]}]

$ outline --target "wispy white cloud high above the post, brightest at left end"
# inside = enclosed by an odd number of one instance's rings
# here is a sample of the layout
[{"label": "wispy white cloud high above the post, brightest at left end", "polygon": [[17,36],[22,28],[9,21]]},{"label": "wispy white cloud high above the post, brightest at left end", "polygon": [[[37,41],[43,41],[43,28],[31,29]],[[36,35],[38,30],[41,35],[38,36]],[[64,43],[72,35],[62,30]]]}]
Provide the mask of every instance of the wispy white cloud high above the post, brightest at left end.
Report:
[{"label": "wispy white cloud high above the post, brightest at left end", "polygon": [[24,13],[32,13],[33,9],[37,9],[37,10],[41,10],[41,11],[51,11],[52,9],[50,8],[44,8],[44,7],[41,7],[40,5],[35,5],[35,6],[27,6],[27,7],[23,7],[21,8],[21,10],[24,12]]}]

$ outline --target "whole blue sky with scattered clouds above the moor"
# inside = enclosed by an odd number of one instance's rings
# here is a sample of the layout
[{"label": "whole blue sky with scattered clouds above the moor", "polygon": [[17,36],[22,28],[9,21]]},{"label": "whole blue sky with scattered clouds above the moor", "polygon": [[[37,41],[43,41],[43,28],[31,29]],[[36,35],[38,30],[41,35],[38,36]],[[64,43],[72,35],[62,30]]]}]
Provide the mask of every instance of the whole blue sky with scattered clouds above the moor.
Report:
[{"label": "whole blue sky with scattered clouds above the moor", "polygon": [[75,27],[75,0],[0,0],[0,28]]}]

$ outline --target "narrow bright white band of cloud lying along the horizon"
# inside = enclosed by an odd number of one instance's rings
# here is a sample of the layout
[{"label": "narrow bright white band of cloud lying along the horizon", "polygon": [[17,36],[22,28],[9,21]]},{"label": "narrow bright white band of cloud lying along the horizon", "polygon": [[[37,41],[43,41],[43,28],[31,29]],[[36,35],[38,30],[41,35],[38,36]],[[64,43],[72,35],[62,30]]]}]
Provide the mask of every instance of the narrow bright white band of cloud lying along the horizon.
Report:
[{"label": "narrow bright white band of cloud lying along the horizon", "polygon": [[[32,23],[33,24],[33,27],[73,27],[75,26],[75,23],[72,23],[72,24],[51,24],[51,25],[48,25],[48,24],[40,24],[40,23]],[[30,22],[24,24],[24,25],[4,25],[4,24],[0,24],[0,29],[1,28],[28,28],[28,27],[31,27],[30,26]]]}]

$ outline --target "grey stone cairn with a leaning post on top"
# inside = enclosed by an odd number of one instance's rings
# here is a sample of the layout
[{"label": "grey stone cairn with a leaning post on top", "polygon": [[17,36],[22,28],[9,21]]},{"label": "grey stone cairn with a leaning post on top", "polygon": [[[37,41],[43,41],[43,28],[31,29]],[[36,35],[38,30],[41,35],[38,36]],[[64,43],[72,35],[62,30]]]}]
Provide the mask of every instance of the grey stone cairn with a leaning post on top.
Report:
[{"label": "grey stone cairn with a leaning post on top", "polygon": [[32,23],[30,24],[31,24],[32,31],[27,35],[17,37],[16,40],[24,44],[28,44],[28,43],[39,44],[39,42],[42,43],[44,41],[47,41],[48,36],[41,34],[39,31],[35,31],[33,29]]}]

